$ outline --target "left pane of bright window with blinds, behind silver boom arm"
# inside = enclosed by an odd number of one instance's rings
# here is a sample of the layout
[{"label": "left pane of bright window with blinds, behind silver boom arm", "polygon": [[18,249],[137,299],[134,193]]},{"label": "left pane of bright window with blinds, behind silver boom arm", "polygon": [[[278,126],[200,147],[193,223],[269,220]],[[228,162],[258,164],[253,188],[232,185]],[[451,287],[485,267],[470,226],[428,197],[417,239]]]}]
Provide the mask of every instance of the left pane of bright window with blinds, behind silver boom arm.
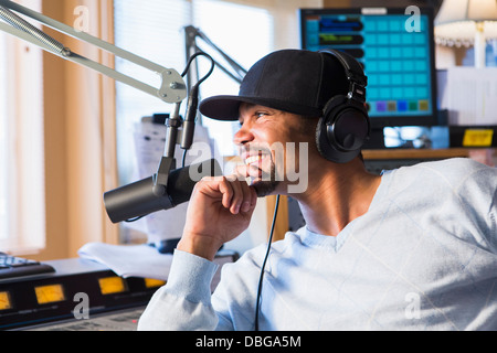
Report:
[{"label": "left pane of bright window with blinds, behind silver boom arm", "polygon": [[[117,0],[116,45],[161,66],[181,72],[184,66],[182,54],[184,44],[180,31],[188,22],[189,13],[189,1]],[[116,60],[116,69],[148,82],[155,87],[159,85],[159,77],[154,73],[142,72],[140,67],[124,60]],[[144,116],[170,113],[172,105],[123,84],[116,85],[116,100],[119,178],[123,183],[128,183],[134,171],[134,125]]]}]

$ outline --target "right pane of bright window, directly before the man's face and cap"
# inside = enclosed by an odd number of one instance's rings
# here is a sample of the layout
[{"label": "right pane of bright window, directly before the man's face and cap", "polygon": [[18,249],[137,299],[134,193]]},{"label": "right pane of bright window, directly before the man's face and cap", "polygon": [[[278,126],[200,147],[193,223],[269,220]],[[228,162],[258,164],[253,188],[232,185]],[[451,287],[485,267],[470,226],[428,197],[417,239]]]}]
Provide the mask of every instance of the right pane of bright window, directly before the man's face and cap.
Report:
[{"label": "right pane of bright window, directly before the man's face and cap", "polygon": [[[193,23],[245,69],[275,47],[274,17],[264,8],[216,0],[193,1]],[[201,41],[199,46],[203,46]],[[215,56],[212,49],[202,50]],[[204,97],[239,94],[239,84],[220,69],[201,88]],[[236,152],[231,136],[240,128],[237,122],[204,119],[203,125],[216,141],[221,154],[233,156]]]}]

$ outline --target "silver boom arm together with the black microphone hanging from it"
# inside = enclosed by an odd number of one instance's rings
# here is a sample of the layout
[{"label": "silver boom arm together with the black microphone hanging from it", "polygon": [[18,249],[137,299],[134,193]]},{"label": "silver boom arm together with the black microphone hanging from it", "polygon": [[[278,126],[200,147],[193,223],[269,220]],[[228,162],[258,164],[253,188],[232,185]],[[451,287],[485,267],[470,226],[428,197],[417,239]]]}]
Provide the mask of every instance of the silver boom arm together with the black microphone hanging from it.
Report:
[{"label": "silver boom arm together with the black microphone hanging from it", "polygon": [[[162,79],[160,87],[152,87],[146,83],[119,73],[114,68],[102,65],[72,52],[71,49],[64,46],[62,43],[42,32],[11,10],[50,26],[65,35],[70,35],[83,42],[93,44],[101,50],[114,54],[115,56],[119,56],[138,66],[159,74]],[[175,104],[175,113],[167,121],[167,145],[157,173],[155,173],[151,178],[121,186],[104,194],[105,207],[113,223],[138,220],[149,213],[157,212],[159,210],[168,210],[175,207],[179,203],[188,201],[195,182],[191,180],[191,174],[198,176],[213,176],[221,174],[219,163],[214,159],[191,165],[188,169],[176,169],[175,159],[175,149],[179,141],[178,136],[180,133],[182,149],[189,150],[193,141],[199,85],[212,74],[215,65],[212,57],[208,54],[195,53],[192,55],[186,71],[180,75],[176,69],[162,67],[93,35],[76,31],[64,23],[55,21],[46,15],[43,15],[42,13],[22,7],[10,0],[0,0],[0,20],[7,22],[3,23],[0,21],[1,31],[33,43],[42,50],[62,58],[97,71],[115,81],[121,82],[128,86],[152,95],[162,101]],[[183,126],[183,121],[179,116],[181,101],[188,96],[188,89],[183,77],[190,68],[191,61],[199,55],[209,57],[211,60],[212,67],[209,74],[191,88],[184,121],[186,126]],[[181,127],[183,129],[180,131],[179,128]]]}]

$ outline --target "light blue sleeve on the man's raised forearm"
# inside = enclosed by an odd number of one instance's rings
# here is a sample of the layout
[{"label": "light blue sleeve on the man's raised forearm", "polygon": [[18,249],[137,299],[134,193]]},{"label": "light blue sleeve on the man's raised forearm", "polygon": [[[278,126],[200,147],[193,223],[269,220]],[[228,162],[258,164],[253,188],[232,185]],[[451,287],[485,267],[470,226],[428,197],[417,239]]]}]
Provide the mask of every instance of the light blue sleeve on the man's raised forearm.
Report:
[{"label": "light blue sleeve on the man's raised forearm", "polygon": [[211,304],[211,281],[218,267],[204,258],[176,250],[168,281],[151,298],[138,330],[214,330],[219,319]]}]

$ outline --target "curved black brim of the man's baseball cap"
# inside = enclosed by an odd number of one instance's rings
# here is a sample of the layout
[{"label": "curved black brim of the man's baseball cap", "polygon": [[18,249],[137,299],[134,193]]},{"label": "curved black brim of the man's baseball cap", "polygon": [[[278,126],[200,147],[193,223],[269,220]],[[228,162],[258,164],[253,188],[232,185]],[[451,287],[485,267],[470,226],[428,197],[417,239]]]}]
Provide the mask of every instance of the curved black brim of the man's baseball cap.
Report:
[{"label": "curved black brim of the man's baseball cap", "polygon": [[308,117],[319,117],[322,113],[320,109],[294,105],[288,101],[279,101],[272,98],[241,96],[215,96],[207,98],[200,104],[199,110],[202,115],[211,119],[234,121],[239,120],[240,105],[242,103],[256,104]]}]

